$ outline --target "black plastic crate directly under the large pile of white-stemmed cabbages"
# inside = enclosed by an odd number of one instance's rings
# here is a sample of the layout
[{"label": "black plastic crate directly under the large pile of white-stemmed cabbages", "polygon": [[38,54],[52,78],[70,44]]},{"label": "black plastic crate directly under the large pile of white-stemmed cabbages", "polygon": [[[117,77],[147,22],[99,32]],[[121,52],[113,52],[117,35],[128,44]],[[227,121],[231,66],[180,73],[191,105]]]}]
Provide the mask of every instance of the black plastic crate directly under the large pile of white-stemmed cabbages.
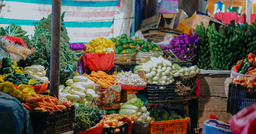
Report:
[{"label": "black plastic crate directly under the large pile of white-stemmed cabbages", "polygon": [[[159,89],[165,87],[165,89]],[[147,84],[148,102],[173,101],[175,95],[175,83],[169,85]]]}]

